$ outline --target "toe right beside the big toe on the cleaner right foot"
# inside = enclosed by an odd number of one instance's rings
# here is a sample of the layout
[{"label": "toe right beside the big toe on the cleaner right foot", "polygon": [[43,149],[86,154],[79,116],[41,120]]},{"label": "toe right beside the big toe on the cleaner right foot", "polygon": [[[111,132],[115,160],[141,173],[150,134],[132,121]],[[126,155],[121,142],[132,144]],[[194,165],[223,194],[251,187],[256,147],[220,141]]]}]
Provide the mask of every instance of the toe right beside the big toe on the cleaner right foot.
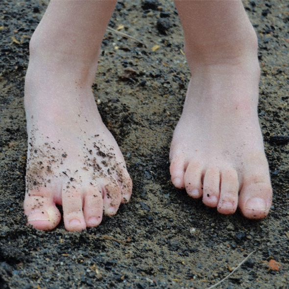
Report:
[{"label": "toe right beside the big toe on the cleaner right foot", "polygon": [[221,190],[217,211],[221,214],[234,214],[238,206],[239,181],[235,169],[221,171]]}]

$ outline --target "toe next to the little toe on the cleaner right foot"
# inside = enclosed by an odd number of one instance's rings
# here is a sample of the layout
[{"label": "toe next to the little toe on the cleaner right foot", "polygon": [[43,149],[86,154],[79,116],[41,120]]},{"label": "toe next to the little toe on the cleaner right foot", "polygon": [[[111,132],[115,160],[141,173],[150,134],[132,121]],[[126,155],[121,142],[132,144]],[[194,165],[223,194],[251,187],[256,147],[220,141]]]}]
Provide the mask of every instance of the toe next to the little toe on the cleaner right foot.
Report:
[{"label": "toe next to the little toe on the cleaner right foot", "polygon": [[202,186],[203,167],[199,163],[190,163],[185,173],[185,187],[187,193],[193,198],[203,194]]}]

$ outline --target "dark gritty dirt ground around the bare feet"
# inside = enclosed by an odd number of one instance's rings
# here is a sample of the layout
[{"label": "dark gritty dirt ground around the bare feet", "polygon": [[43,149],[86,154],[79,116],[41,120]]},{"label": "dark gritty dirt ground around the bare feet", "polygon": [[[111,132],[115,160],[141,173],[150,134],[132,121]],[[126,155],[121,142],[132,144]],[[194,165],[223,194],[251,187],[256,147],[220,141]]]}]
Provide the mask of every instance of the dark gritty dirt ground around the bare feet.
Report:
[{"label": "dark gritty dirt ground around the bare feet", "polygon": [[133,196],[115,217],[73,233],[63,223],[34,230],[23,215],[24,77],[29,39],[47,4],[0,1],[0,288],[205,289],[253,251],[218,288],[288,288],[289,1],[244,1],[259,39],[259,116],[274,190],[269,216],[222,216],[172,186],[169,145],[190,77],[182,27],[170,0],[156,10],[122,0],[109,25],[123,25],[120,32],[144,45],[107,31],[93,89]]}]

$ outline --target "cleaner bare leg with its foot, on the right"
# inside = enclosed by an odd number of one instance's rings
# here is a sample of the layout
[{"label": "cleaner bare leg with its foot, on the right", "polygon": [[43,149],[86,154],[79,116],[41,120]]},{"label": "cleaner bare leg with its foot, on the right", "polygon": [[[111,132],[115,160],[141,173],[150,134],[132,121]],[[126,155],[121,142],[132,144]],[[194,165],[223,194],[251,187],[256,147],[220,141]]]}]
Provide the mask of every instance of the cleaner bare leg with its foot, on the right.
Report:
[{"label": "cleaner bare leg with its foot, on the right", "polygon": [[[222,214],[267,215],[257,37],[239,0],[175,0],[192,78],[171,143],[175,187]],[[240,195],[238,196],[238,192]]]}]

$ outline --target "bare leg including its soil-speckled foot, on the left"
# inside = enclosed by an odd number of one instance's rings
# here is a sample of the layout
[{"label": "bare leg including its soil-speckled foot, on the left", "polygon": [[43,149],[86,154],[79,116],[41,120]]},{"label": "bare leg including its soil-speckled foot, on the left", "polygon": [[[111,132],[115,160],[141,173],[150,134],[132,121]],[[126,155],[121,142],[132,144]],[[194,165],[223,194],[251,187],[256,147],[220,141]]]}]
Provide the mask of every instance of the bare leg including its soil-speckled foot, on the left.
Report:
[{"label": "bare leg including its soil-speckled foot, on the left", "polygon": [[131,179],[101,121],[91,85],[116,0],[51,0],[30,42],[25,79],[28,160],[24,212],[42,230],[98,225],[131,194]]}]

